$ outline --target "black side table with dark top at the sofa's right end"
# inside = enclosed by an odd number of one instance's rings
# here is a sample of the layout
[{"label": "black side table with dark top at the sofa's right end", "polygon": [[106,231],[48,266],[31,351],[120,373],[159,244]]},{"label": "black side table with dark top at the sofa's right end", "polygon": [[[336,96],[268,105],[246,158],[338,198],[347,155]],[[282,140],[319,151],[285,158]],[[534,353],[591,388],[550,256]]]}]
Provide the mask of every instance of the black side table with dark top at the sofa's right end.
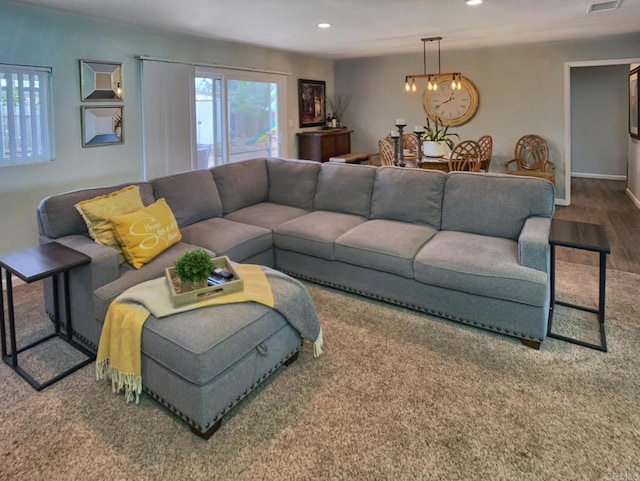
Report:
[{"label": "black side table with dark top at the sofa's right end", "polygon": [[[597,349],[598,351],[607,352],[607,336],[605,332],[605,285],[607,281],[607,254],[611,253],[609,240],[604,227],[599,224],[585,224],[583,222],[574,222],[568,220],[552,219],[551,232],[549,235],[549,243],[551,244],[551,303],[549,306],[549,325],[547,327],[547,336],[554,339],[577,344],[579,346]],[[598,308],[593,309],[585,306],[578,306],[568,302],[556,300],[556,246],[571,247],[573,249],[582,249],[600,254],[600,284],[598,292]],[[598,315],[600,324],[600,344],[592,344],[578,339],[573,339],[551,332],[551,324],[553,321],[553,311],[555,305],[571,307],[581,311],[592,312]]]}]

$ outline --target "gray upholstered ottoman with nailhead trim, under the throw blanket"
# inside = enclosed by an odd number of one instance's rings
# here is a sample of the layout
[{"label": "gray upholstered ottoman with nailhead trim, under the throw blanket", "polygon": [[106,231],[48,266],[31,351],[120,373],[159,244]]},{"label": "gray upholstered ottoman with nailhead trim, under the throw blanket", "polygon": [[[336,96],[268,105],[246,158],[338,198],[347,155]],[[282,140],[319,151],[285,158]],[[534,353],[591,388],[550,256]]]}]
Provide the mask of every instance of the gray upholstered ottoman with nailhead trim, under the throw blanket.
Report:
[{"label": "gray upholstered ottoman with nailhead trim, under the throw blanket", "polygon": [[142,332],[143,389],[208,439],[229,410],[295,361],[301,347],[279,312],[253,302],[150,316]]}]

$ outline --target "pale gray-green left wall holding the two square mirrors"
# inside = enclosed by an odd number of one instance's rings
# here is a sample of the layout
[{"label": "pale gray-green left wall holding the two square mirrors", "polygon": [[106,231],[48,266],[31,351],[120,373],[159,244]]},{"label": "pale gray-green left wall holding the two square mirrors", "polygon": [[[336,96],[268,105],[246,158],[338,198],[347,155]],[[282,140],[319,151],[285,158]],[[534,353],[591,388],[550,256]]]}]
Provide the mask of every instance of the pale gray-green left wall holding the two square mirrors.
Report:
[{"label": "pale gray-green left wall holding the two square mirrors", "polygon": [[[0,254],[37,244],[36,207],[45,196],[141,178],[140,55],[291,72],[287,80],[288,152],[296,156],[297,79],[327,81],[330,60],[143,29],[0,0],[0,63],[53,67],[57,159],[0,168]],[[123,62],[125,143],[83,149],[79,60]],[[167,95],[171,95],[167,92]]]}]

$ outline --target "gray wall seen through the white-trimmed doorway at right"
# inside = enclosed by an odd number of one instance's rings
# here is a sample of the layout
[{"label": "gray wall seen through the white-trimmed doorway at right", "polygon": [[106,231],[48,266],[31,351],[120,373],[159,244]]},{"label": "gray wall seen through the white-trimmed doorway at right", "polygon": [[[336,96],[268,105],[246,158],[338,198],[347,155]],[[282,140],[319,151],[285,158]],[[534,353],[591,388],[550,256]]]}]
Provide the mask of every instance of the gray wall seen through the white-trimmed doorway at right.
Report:
[{"label": "gray wall seen through the white-trimmed doorway at right", "polygon": [[571,173],[627,176],[628,65],[571,69]]}]

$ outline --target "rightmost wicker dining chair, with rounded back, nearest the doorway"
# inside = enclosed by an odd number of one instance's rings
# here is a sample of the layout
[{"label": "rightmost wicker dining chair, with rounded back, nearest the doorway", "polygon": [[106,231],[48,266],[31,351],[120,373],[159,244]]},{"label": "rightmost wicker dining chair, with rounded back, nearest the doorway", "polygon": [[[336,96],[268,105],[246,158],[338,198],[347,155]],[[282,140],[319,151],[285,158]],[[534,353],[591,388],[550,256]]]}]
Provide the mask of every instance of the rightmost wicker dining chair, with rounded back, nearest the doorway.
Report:
[{"label": "rightmost wicker dining chair, with rounded back, nearest the doorway", "polygon": [[555,184],[556,164],[549,160],[549,146],[539,135],[520,137],[516,142],[514,157],[504,164],[505,174],[541,177]]}]

